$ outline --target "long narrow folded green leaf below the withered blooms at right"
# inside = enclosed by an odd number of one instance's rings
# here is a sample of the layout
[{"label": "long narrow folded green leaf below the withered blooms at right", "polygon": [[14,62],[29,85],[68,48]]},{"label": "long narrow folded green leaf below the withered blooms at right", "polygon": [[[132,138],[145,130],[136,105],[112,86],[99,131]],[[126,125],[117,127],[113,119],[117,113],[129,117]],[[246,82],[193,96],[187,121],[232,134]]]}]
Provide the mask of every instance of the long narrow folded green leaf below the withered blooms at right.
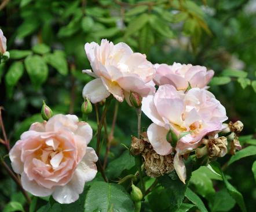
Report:
[{"label": "long narrow folded green leaf below the withered blooms at right", "polygon": [[247,210],[246,210],[246,205],[244,204],[243,195],[239,191],[237,191],[237,189],[233,187],[233,185],[231,185],[229,181],[226,179],[225,174],[221,170],[220,164],[217,162],[211,162],[210,164],[211,164],[211,167],[215,170],[215,172],[217,172],[218,174],[221,174],[222,179],[225,183],[226,189],[228,189],[228,192],[232,196],[232,198],[236,200],[236,203],[239,205],[242,212],[246,212]]}]

